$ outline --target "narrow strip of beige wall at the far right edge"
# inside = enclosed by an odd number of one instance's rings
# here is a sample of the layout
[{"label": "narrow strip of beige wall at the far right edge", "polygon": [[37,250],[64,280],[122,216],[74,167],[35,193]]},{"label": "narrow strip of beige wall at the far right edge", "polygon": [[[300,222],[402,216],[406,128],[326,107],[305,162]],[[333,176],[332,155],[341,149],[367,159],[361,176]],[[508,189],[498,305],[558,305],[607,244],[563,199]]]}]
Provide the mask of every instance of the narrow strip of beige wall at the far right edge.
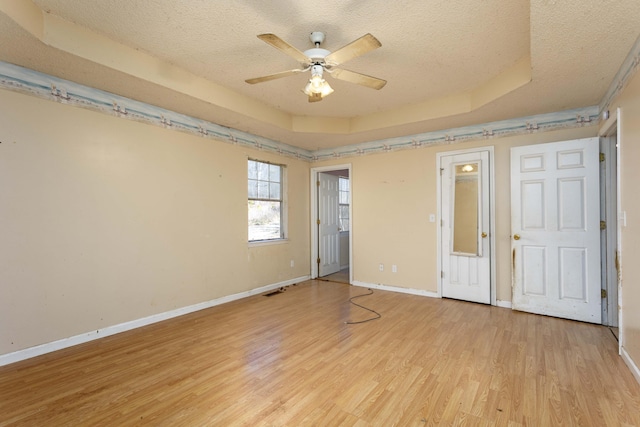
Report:
[{"label": "narrow strip of beige wall at the far right edge", "polygon": [[638,197],[640,162],[640,73],[629,82],[609,107],[612,114],[621,109],[620,190],[621,208],[627,224],[622,227],[622,347],[640,366],[640,197]]}]

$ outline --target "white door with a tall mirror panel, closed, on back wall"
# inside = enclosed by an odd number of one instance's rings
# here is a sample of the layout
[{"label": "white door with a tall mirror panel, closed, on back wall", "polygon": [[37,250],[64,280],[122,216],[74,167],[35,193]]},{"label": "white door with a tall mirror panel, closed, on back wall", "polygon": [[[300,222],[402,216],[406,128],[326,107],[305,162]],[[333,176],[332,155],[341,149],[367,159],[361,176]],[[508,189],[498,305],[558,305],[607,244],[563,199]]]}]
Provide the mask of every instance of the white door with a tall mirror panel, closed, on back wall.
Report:
[{"label": "white door with a tall mirror panel, closed, on back wall", "polygon": [[491,303],[488,151],[440,157],[442,296]]}]

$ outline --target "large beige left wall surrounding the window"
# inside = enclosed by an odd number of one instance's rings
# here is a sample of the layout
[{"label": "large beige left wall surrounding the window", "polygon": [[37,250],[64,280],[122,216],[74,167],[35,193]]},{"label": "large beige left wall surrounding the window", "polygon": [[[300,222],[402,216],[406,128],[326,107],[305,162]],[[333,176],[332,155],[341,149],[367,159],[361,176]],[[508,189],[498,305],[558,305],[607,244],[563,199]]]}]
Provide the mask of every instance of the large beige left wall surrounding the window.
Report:
[{"label": "large beige left wall surrounding the window", "polygon": [[[248,156],[287,243],[248,247]],[[0,355],[308,275],[309,222],[306,162],[0,90]]]}]

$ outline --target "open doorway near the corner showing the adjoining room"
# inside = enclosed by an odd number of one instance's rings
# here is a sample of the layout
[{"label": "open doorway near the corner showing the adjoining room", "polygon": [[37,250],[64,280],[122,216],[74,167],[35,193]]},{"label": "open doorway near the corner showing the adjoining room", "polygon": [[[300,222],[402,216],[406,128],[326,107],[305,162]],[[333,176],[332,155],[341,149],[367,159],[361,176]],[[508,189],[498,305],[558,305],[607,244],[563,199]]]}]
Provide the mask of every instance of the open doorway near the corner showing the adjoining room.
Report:
[{"label": "open doorway near the corner showing the adjoining room", "polygon": [[350,284],[351,165],[311,169],[311,278]]}]

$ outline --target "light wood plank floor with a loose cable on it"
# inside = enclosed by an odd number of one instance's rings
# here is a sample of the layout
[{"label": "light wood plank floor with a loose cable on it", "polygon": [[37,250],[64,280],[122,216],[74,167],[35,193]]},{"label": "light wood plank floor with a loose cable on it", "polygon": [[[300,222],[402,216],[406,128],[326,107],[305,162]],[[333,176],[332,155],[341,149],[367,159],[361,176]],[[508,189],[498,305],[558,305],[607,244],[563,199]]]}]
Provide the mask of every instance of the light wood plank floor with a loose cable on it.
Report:
[{"label": "light wood plank floor with a loose cable on it", "polygon": [[605,327],[311,281],[0,368],[0,425],[640,425]]}]

